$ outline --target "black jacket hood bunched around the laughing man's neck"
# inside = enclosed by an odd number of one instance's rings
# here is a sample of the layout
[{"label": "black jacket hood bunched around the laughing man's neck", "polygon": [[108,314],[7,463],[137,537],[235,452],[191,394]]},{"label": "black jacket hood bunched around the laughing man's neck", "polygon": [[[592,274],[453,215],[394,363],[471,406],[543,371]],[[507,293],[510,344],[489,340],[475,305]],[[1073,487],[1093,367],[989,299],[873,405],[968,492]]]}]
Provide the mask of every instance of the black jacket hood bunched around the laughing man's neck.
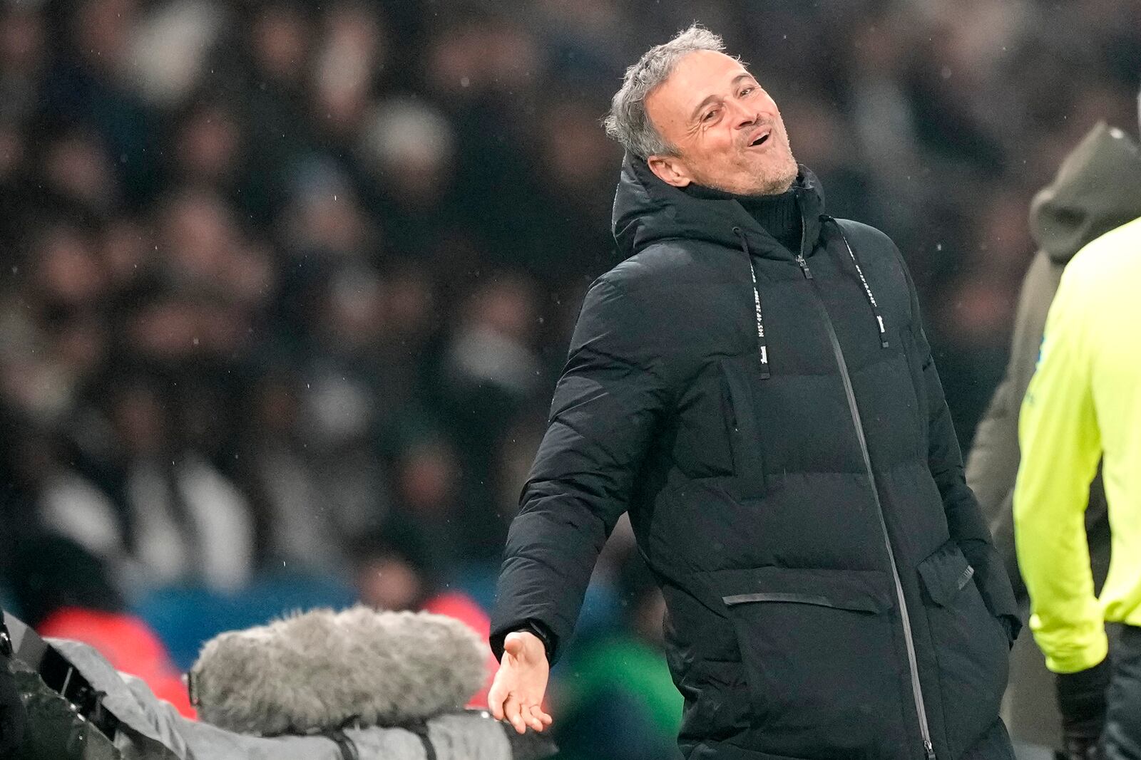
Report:
[{"label": "black jacket hood bunched around the laughing man's neck", "polygon": [[[820,234],[824,190],[816,175],[804,166],[800,166],[793,190],[800,202],[804,237],[815,242]],[[629,153],[623,158],[613,215],[614,239],[622,259],[629,259],[650,243],[667,238],[707,240],[739,248],[741,238],[734,228],[748,235],[750,247],[758,255],[790,258],[784,246],[737,201],[691,196],[663,182],[641,158]]]}]

